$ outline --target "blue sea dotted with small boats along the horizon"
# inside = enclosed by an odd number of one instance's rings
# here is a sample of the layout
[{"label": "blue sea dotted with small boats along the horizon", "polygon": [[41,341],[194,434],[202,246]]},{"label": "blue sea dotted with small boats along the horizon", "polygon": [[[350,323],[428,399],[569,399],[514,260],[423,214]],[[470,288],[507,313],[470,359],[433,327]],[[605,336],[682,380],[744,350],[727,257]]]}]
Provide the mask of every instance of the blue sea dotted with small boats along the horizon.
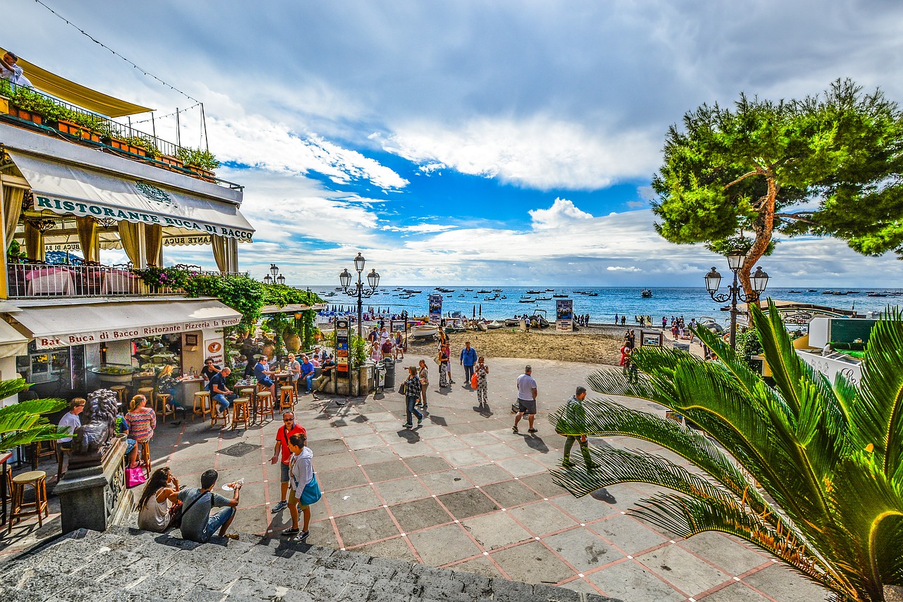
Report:
[{"label": "blue sea dotted with small boats along the horizon", "polygon": [[[569,286],[535,286],[535,287],[511,287],[511,286],[448,286],[453,292],[438,292],[434,286],[380,286],[377,294],[364,300],[364,309],[382,311],[384,313],[399,313],[407,310],[410,315],[424,315],[427,312],[427,296],[430,293],[442,294],[442,314],[448,315],[452,311],[471,315],[482,315],[489,320],[504,320],[515,315],[525,313],[533,314],[536,309],[545,310],[550,321],[554,321],[555,299],[550,301],[518,302],[522,298],[535,299],[536,297],[552,297],[554,294],[566,294],[573,299],[573,311],[575,314],[590,314],[591,322],[611,322],[615,314],[626,315],[628,323],[634,321],[635,316],[652,316],[653,322],[661,323],[662,316],[669,320],[671,316],[684,316],[684,320],[709,316],[715,320],[726,323],[729,319],[727,311],[721,311],[726,303],[716,303],[709,297],[704,287],[650,287],[651,299],[640,296],[641,287],[569,287]],[[465,288],[472,291],[465,291]],[[403,299],[405,293],[402,290],[418,291],[409,299]],[[551,289],[546,291],[546,289]],[[723,292],[724,287],[721,287]],[[311,287],[324,301],[330,304],[330,309],[335,307],[356,311],[357,298],[351,298],[341,291],[335,291],[334,287]],[[499,299],[488,301],[498,290]],[[868,315],[869,311],[881,311],[888,305],[903,305],[903,290],[901,289],[830,289],[832,291],[847,292],[844,295],[824,294],[828,289],[817,289],[809,292],[807,289],[797,289],[800,292],[791,292],[794,289],[775,288],[768,289],[765,297],[771,297],[780,301],[797,301],[801,303],[813,303],[828,307],[851,310]],[[479,292],[489,291],[489,292]],[[541,291],[541,294],[527,294],[527,291]],[[582,292],[595,292],[598,296],[580,294]],[[869,292],[889,293],[887,297],[870,297]],[[333,296],[329,296],[333,293]],[[506,299],[502,299],[504,296]]]}]

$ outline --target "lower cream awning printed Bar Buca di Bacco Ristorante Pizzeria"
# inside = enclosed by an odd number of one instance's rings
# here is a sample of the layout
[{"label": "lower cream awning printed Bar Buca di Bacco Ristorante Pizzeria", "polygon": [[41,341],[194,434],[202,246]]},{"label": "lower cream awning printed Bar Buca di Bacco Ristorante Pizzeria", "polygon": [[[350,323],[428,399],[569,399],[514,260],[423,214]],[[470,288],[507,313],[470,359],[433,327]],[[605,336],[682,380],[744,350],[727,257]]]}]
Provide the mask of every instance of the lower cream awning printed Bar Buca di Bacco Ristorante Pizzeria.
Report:
[{"label": "lower cream awning printed Bar Buca di Bacco Ristorante Pizzeria", "polygon": [[12,317],[39,349],[221,329],[241,321],[240,313],[216,299],[26,303]]}]

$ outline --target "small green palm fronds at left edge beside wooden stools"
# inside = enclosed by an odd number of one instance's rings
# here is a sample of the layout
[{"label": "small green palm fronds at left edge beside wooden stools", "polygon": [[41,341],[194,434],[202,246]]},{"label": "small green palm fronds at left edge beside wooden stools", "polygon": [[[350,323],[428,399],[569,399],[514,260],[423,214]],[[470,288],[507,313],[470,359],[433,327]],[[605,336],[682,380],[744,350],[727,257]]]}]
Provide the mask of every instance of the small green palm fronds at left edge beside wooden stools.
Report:
[{"label": "small green palm fronds at left edge beside wooden stools", "polygon": [[[18,394],[28,388],[23,378],[0,381],[0,399]],[[34,441],[57,440],[68,437],[69,431],[60,428],[44,416],[66,407],[62,399],[35,399],[0,408],[0,451],[13,449]]]}]

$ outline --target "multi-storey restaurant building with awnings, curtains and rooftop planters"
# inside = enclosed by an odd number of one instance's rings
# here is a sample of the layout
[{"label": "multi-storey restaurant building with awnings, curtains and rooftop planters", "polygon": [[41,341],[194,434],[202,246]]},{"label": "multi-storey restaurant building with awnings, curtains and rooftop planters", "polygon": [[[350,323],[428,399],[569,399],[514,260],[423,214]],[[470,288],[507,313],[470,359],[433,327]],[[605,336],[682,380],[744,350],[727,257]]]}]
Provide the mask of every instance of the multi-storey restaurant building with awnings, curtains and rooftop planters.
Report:
[{"label": "multi-storey restaurant building with awnings, curtains and rooftop planters", "polygon": [[[132,270],[163,266],[164,248],[206,245],[217,269],[191,270],[237,273],[238,244],[254,234],[239,210],[243,188],[113,119],[150,109],[19,64],[37,88],[32,99],[88,116],[81,123],[98,131],[23,107],[15,90],[0,96],[0,242],[24,250],[0,254],[0,378],[19,374],[36,394],[68,399],[149,384],[166,364],[186,374],[205,357],[222,363],[223,329],[241,315],[216,299],[149,286]],[[122,249],[128,262],[101,264],[102,248]],[[51,264],[48,251],[83,260]]]}]

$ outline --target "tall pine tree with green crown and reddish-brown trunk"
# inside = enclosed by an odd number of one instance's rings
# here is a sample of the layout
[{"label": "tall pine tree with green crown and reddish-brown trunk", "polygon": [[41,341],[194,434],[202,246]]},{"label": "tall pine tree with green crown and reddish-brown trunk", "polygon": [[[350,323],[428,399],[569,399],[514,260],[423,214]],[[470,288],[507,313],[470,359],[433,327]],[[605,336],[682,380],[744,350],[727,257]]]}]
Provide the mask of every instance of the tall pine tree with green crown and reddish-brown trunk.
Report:
[{"label": "tall pine tree with green crown and reddish-brown trunk", "polygon": [[897,104],[849,79],[801,100],[740,94],[732,109],[703,105],[666,135],[653,179],[656,230],[721,254],[749,234],[740,242],[749,250],[744,274],[768,254],[775,230],[837,236],[863,255],[903,255],[901,148]]}]

